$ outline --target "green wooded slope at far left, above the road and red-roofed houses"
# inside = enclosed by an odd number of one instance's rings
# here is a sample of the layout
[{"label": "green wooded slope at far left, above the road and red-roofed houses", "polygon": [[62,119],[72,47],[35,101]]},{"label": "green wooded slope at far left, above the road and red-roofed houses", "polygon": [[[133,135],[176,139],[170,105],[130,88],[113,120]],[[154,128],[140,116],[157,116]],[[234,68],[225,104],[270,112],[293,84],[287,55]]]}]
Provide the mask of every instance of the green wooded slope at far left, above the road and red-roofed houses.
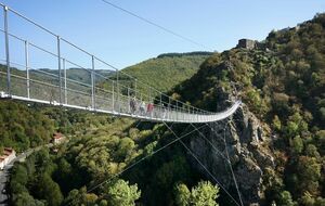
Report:
[{"label": "green wooded slope at far left, above the road and red-roofed houses", "polygon": [[23,152],[48,143],[55,131],[55,124],[41,108],[26,104],[0,102],[0,152],[3,146]]}]

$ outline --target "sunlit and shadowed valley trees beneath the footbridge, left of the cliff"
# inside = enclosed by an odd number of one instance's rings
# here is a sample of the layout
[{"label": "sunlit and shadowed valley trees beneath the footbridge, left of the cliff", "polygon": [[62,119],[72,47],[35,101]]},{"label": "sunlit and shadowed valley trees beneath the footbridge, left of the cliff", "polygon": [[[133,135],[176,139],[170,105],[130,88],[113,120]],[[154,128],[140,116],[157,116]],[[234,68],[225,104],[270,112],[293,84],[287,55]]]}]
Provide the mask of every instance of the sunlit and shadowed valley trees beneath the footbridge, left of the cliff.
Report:
[{"label": "sunlit and shadowed valley trees beneath the footbridge, left of the cliff", "polygon": [[[174,139],[164,125],[89,113],[48,114],[64,121],[62,131],[73,138],[58,152],[43,149],[15,164],[10,182],[14,205],[182,205],[184,201],[214,205],[218,186],[199,181],[182,147],[173,145],[151,156]],[[145,156],[151,157],[125,171]]]}]

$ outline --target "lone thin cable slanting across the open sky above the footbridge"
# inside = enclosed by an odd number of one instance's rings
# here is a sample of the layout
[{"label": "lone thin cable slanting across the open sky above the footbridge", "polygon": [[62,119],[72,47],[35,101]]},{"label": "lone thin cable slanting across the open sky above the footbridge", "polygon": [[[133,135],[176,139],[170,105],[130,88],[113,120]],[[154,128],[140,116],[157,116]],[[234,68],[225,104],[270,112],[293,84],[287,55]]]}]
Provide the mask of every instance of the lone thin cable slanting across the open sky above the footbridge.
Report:
[{"label": "lone thin cable slanting across the open sky above the footbridge", "polygon": [[135,14],[134,12],[131,12],[131,11],[129,11],[129,10],[126,10],[126,9],[123,9],[123,8],[121,8],[121,7],[117,5],[117,4],[114,4],[114,3],[112,3],[110,1],[107,1],[107,0],[101,0],[101,1],[103,1],[104,3],[110,5],[110,7],[115,8],[115,9],[118,9],[118,10],[120,10],[120,11],[122,11],[122,12],[125,12],[125,13],[127,13],[127,14],[133,16],[133,17],[136,17],[136,18],[139,18],[139,20],[141,20],[141,21],[143,21],[143,22],[145,22],[145,23],[147,23],[147,24],[150,24],[150,25],[152,25],[152,26],[155,26],[155,27],[157,27],[157,28],[159,28],[159,29],[161,29],[161,30],[164,30],[164,31],[166,31],[166,33],[169,33],[169,34],[171,34],[171,35],[173,35],[173,36],[176,36],[176,37],[178,37],[178,38],[181,38],[181,39],[183,39],[184,41],[187,41],[187,42],[191,42],[191,43],[193,43],[193,44],[195,44],[195,46],[205,48],[205,49],[207,49],[207,50],[209,50],[209,51],[213,51],[211,48],[209,48],[209,47],[207,47],[207,46],[205,46],[205,44],[203,44],[203,43],[199,43],[199,42],[197,42],[197,41],[195,41],[195,40],[193,40],[193,39],[191,39],[191,38],[188,38],[188,37],[185,37],[185,36],[183,36],[183,35],[180,35],[180,34],[178,34],[178,33],[176,33],[176,31],[173,31],[173,30],[171,30],[171,29],[169,29],[169,28],[166,28],[166,27],[164,27],[164,26],[161,26],[161,25],[159,25],[159,24],[157,24],[157,23],[155,23],[155,22],[153,22],[153,21],[151,21],[151,20],[147,20],[147,18],[145,18],[145,17],[143,17],[143,16],[140,16],[139,14]]}]

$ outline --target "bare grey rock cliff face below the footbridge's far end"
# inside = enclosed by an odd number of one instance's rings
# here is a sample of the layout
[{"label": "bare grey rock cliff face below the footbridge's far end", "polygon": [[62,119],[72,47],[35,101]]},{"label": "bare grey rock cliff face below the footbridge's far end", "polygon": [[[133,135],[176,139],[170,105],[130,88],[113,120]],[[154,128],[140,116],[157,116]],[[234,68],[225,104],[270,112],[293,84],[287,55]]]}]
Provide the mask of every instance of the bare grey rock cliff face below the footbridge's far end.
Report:
[{"label": "bare grey rock cliff face below the footbridge's far end", "polygon": [[[245,105],[232,118],[209,126],[210,128],[207,127],[202,133],[208,141],[202,136],[192,138],[191,150],[217,180],[235,195],[235,182],[227,162],[227,151],[244,204],[262,204],[263,171],[266,167],[274,167],[272,152],[269,149],[269,128],[262,128],[257,117]],[[193,166],[202,173],[206,173],[197,163],[193,162]],[[238,201],[238,196],[234,198]]]}]

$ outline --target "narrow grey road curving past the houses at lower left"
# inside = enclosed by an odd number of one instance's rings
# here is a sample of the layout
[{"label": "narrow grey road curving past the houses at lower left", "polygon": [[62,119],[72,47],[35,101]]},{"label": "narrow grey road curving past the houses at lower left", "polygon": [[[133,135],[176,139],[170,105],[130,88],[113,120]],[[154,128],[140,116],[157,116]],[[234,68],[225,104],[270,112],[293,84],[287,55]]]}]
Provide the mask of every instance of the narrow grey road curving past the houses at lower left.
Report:
[{"label": "narrow grey road curving past the houses at lower left", "polygon": [[49,143],[49,144],[41,145],[41,146],[38,146],[38,147],[35,147],[35,149],[29,149],[26,152],[24,152],[24,153],[20,154],[18,156],[16,156],[16,158],[12,159],[12,162],[10,162],[10,164],[8,164],[3,168],[3,170],[0,170],[0,206],[8,205],[9,194],[8,194],[8,190],[5,189],[5,186],[6,186],[6,183],[9,182],[10,170],[13,167],[13,165],[15,164],[15,162],[24,160],[31,153],[39,151],[43,146],[52,147],[53,144]]}]

